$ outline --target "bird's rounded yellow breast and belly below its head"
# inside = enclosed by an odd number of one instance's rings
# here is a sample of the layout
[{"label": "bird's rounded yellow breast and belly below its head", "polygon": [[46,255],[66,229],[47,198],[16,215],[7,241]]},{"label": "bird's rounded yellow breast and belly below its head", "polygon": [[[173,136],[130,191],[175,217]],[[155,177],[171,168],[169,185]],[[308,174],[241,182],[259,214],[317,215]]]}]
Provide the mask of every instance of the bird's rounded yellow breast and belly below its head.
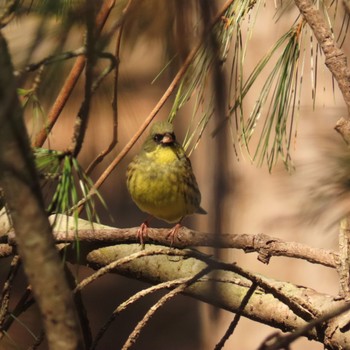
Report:
[{"label": "bird's rounded yellow breast and belly below its head", "polygon": [[137,156],[129,166],[127,185],[142,211],[167,222],[179,221],[199,207],[200,193],[189,162],[170,147]]}]

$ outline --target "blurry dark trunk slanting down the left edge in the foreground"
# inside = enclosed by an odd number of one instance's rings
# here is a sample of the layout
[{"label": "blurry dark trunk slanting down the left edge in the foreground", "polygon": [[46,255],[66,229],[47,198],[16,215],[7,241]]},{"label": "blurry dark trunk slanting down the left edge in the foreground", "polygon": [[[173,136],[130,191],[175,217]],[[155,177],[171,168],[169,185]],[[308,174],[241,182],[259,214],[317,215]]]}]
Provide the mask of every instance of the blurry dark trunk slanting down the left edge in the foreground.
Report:
[{"label": "blurry dark trunk slanting down the left edge in the foreground", "polygon": [[7,43],[0,32],[0,187],[49,347],[76,350],[82,347],[80,326],[40,197],[12,72]]}]

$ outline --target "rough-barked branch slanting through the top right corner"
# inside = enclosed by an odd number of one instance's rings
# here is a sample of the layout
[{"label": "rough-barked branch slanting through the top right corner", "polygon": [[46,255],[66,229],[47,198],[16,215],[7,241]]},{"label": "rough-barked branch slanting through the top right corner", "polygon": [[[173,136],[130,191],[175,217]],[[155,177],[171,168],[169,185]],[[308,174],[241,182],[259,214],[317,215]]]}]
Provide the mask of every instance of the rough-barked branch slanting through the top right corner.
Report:
[{"label": "rough-barked branch slanting through the top right corner", "polygon": [[314,33],[326,58],[326,65],[337,81],[344,101],[350,113],[350,69],[346,56],[334,39],[334,36],[312,0],[294,0],[301,14]]}]

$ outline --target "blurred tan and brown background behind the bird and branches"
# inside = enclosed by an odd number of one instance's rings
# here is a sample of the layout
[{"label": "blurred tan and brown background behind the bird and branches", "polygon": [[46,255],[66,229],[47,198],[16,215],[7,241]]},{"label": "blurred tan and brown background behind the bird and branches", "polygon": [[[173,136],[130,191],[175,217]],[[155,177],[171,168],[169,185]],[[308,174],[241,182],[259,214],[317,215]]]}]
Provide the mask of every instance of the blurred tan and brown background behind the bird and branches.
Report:
[{"label": "blurred tan and brown background behind the bird and branches", "polygon": [[[184,0],[177,3],[175,0],[131,1],[119,58],[118,143],[93,171],[91,174],[93,180],[96,181],[135,134],[167,89],[186,54],[198,40],[200,30],[193,28],[193,18],[198,15],[195,3],[196,1]],[[298,16],[296,8],[291,5],[282,14],[280,13],[283,18],[278,20],[274,2],[258,1],[258,3],[259,8],[251,15],[247,15],[243,23],[245,28],[242,29],[242,40],[248,43],[244,60],[245,78],[272,45],[290,29]],[[55,50],[60,49],[63,52],[81,47],[84,27],[79,17],[79,6],[82,6],[82,2],[73,2],[74,10],[67,10],[64,14],[57,14],[53,10],[52,14],[40,12],[40,6],[31,7],[29,1],[26,5],[27,9],[22,10],[16,20],[12,20],[4,28],[15,69],[52,55]],[[45,5],[45,1],[42,5]],[[223,2],[218,1],[217,9],[222,5]],[[113,26],[121,16],[121,11],[127,6],[129,6],[128,1],[116,1],[104,32],[113,30]],[[338,16],[343,15],[338,14]],[[341,25],[341,20],[335,21],[335,30],[339,30]],[[181,38],[183,41],[180,41]],[[309,31],[305,36],[305,47],[310,44],[310,38]],[[110,42],[105,50],[113,53],[115,36],[112,35],[108,40]],[[310,45],[317,50],[315,39],[313,40]],[[343,49],[349,56],[348,40],[344,41]],[[302,55],[309,57],[310,51],[310,48],[304,49]],[[231,52],[228,60],[232,59],[232,55]],[[173,57],[176,62],[165,69],[154,81]],[[42,79],[38,90],[42,110],[30,108],[30,106],[25,110],[30,135],[35,135],[40,129],[44,116],[50,110],[74,60],[75,58],[59,62],[45,70],[45,79]],[[192,165],[202,193],[202,206],[208,211],[208,215],[187,218],[184,222],[186,226],[204,232],[213,232],[217,228],[217,212],[214,210],[217,207],[220,208],[220,231],[222,232],[264,233],[286,241],[305,243],[312,247],[337,249],[339,212],[337,208],[330,208],[325,203],[324,211],[314,213],[312,197],[313,191],[322,191],[323,176],[336,171],[330,155],[343,152],[344,145],[340,136],[334,131],[334,126],[340,117],[347,115],[347,110],[337,86],[334,86],[331,75],[324,67],[322,55],[319,55],[316,67],[318,70],[317,96],[315,102],[313,101],[311,62],[310,58],[305,59],[303,67],[300,109],[296,112],[298,115],[297,138],[293,139],[291,147],[294,169],[287,171],[283,162],[279,161],[269,172],[267,165],[257,166],[250,160],[247,152],[245,150],[241,152],[239,145],[236,144],[237,155],[232,146],[229,128],[221,128],[215,137],[212,136],[219,119],[211,118],[200,142],[191,153]],[[274,61],[269,67],[273,65]],[[244,110],[247,114],[256,102],[268,72],[267,69],[262,73],[261,80],[257,81],[246,96]],[[224,74],[228,79],[230,73],[224,70]],[[33,79],[33,75],[29,75],[23,81],[23,86],[30,87]],[[81,78],[45,147],[65,150],[70,144],[75,117],[82,102],[83,83]],[[84,167],[105,149],[111,140],[112,98],[113,76],[110,75],[92,99],[89,126],[79,156],[79,161]],[[156,119],[168,118],[173,103],[174,96],[160,110]],[[195,102],[190,99],[179,109],[174,120],[177,138],[180,141],[185,138],[194,105]],[[144,136],[100,188],[108,208],[107,211],[102,206],[98,207],[103,224],[135,227],[145,219],[145,214],[140,212],[131,201],[125,184],[127,165],[140,150],[143,138]],[[251,149],[256,142],[257,140],[252,140]],[[224,147],[219,151],[225,155],[225,158],[219,156],[218,145]],[[220,191],[219,195],[216,191]],[[340,207],[339,210],[341,212],[342,208]],[[309,211],[310,216],[305,215]],[[162,227],[164,223],[155,220],[152,225]],[[237,262],[239,266],[249,271],[261,273],[270,278],[304,285],[321,293],[331,295],[338,293],[338,277],[335,270],[281,257],[272,258],[269,265],[263,265],[257,261],[255,253],[245,254],[237,250],[225,250],[220,252],[220,255],[226,261]],[[7,274],[8,266],[5,265],[2,266],[2,278]],[[79,277],[83,278],[90,273],[91,270],[88,268],[81,268]],[[25,277],[19,278],[17,283],[19,286],[24,286]],[[132,279],[109,275],[86,288],[83,292],[83,300],[87,305],[93,332],[98,331],[114,308],[145,286]],[[120,348],[136,323],[161,295],[163,294],[158,293],[149,296],[120,315],[101,341],[99,349]],[[19,297],[20,294],[17,298]],[[233,314],[225,311],[216,313],[210,306],[188,297],[177,297],[156,313],[143,330],[134,348],[213,349],[233,317]],[[36,333],[40,329],[37,324],[38,319],[35,307],[32,307],[20,321],[15,322],[9,337],[2,339],[0,348],[27,348],[33,341],[28,328]],[[274,331],[267,326],[242,319],[225,349],[256,349]],[[44,349],[45,344],[40,348]],[[323,349],[323,346],[301,339],[292,344],[291,348],[317,350]]]}]

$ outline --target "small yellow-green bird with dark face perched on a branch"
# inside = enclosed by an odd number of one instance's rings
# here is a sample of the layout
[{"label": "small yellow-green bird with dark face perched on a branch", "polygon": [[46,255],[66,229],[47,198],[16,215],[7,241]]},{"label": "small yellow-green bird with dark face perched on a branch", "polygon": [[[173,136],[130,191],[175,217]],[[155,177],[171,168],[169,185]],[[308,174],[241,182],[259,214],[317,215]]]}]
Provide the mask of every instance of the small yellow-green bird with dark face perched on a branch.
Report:
[{"label": "small yellow-green bird with dark face perched on a branch", "polygon": [[[173,124],[167,121],[152,125],[140,153],[128,166],[127,188],[141,211],[176,223],[167,235],[171,244],[185,216],[206,214],[200,206],[201,193],[191,162],[176,140]],[[137,231],[142,245],[147,228],[148,220]]]}]

